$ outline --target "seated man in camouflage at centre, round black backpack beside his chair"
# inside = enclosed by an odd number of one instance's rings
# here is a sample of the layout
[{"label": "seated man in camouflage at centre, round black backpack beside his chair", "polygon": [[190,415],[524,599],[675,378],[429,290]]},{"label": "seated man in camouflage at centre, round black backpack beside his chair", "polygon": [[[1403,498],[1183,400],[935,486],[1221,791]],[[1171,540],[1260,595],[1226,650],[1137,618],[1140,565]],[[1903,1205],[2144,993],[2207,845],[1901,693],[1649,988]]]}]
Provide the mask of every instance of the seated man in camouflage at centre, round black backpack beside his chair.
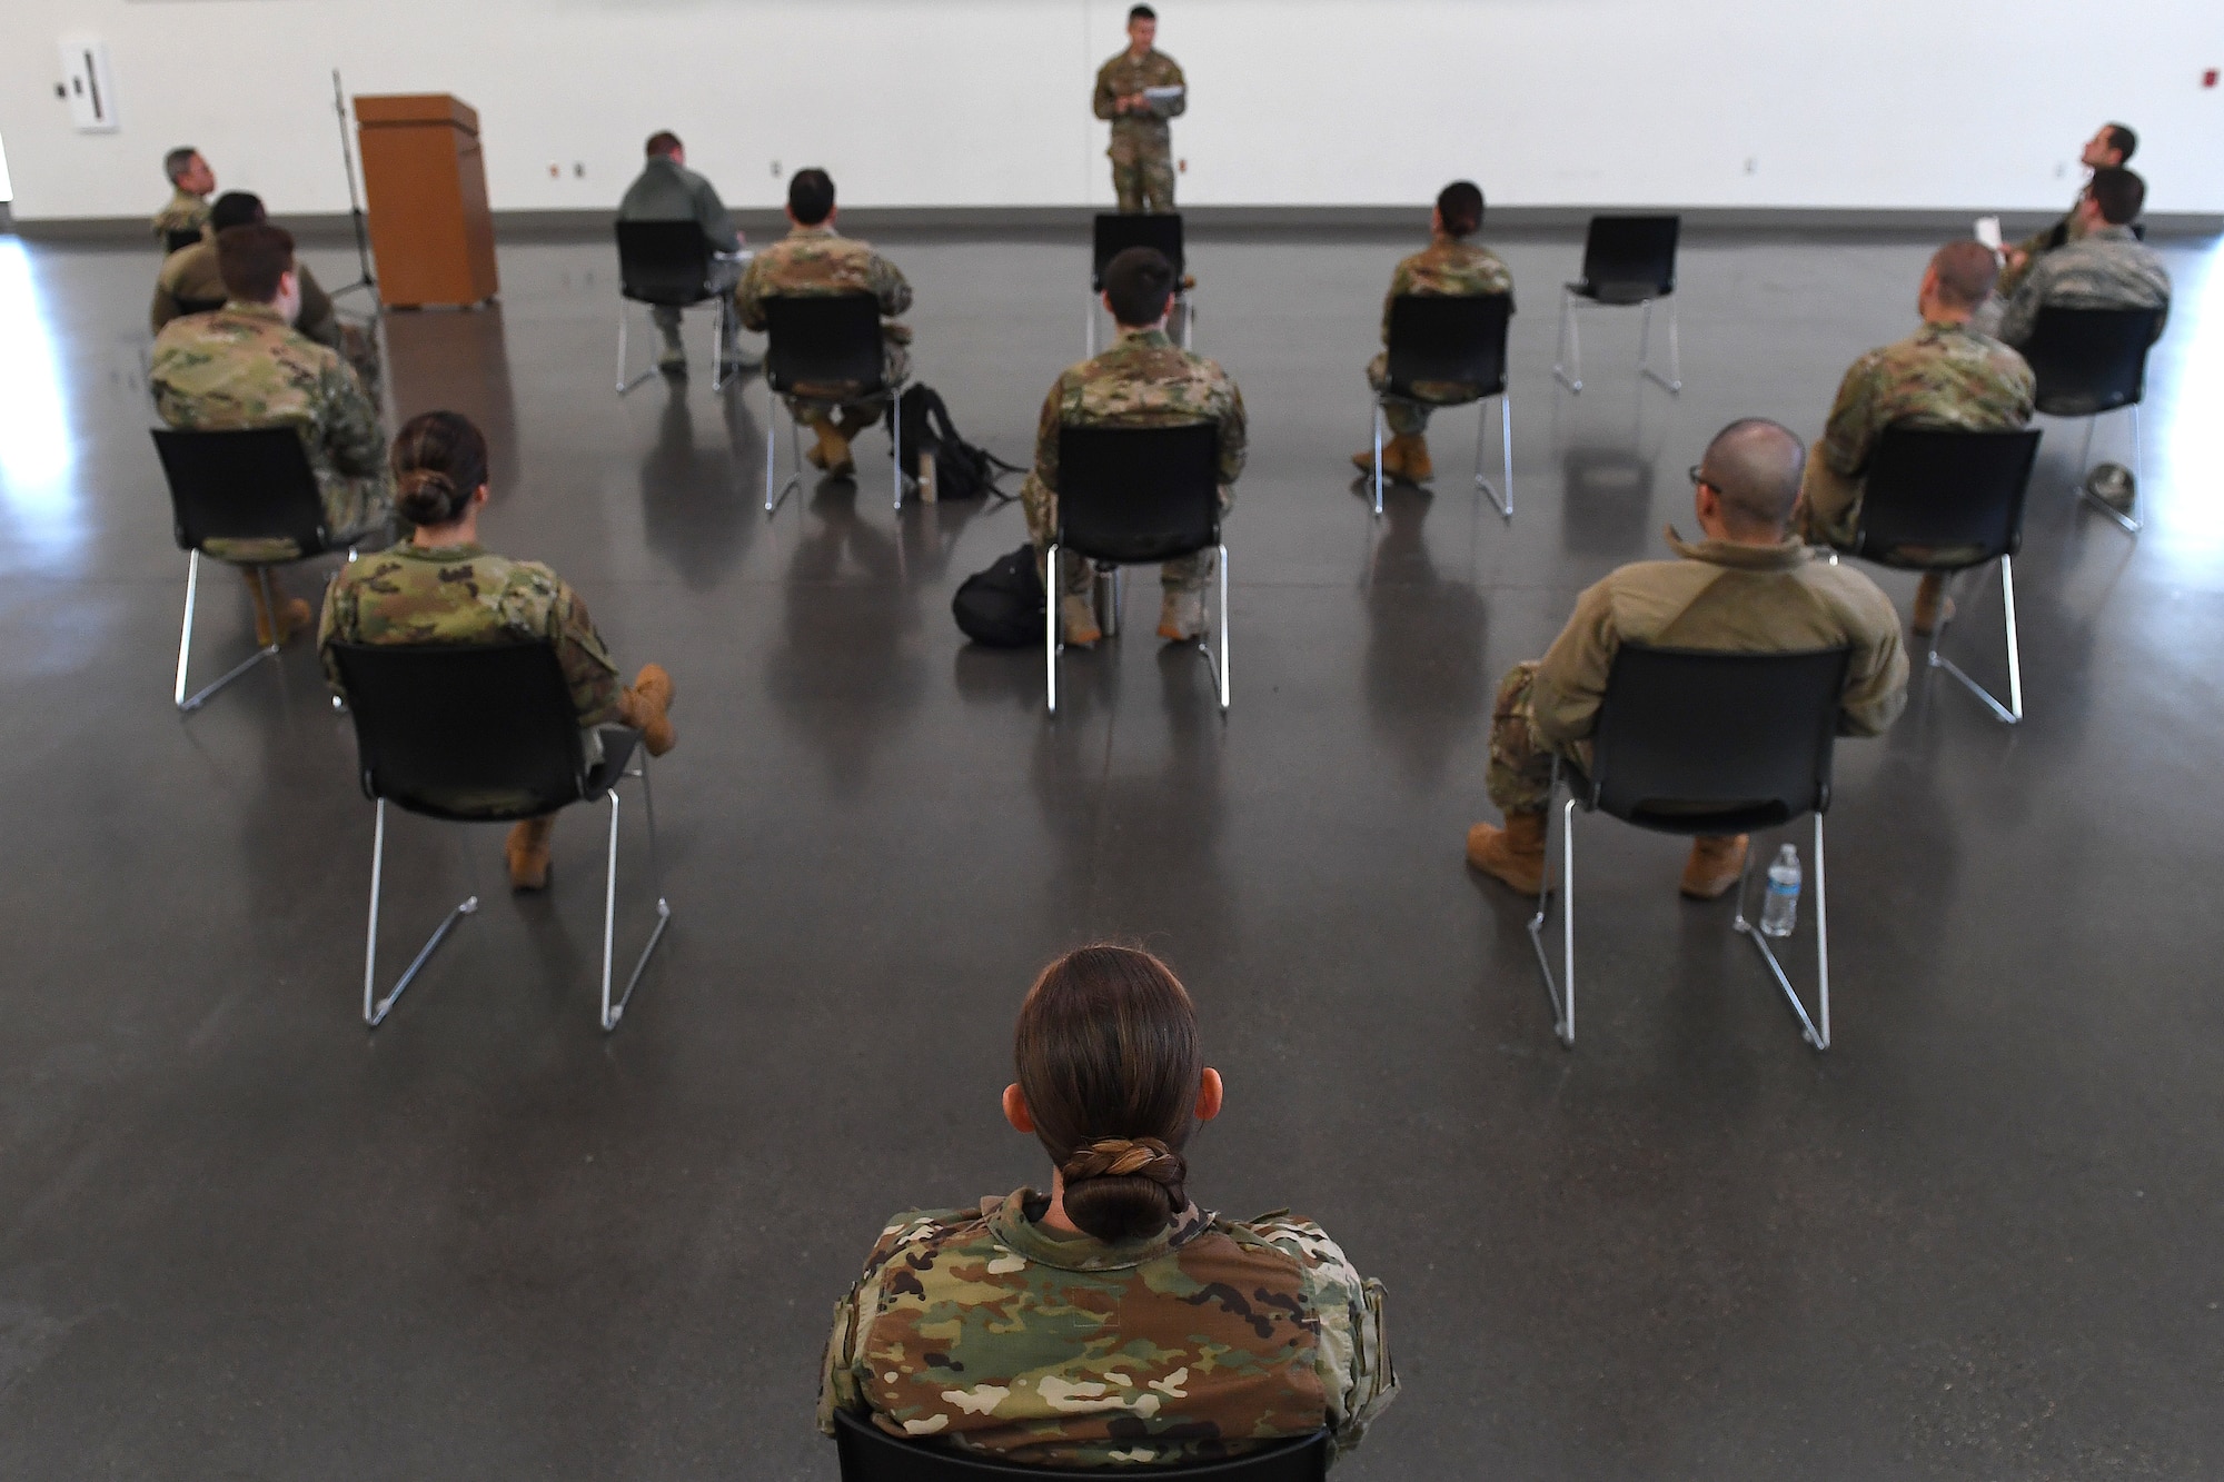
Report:
[{"label": "seated man in camouflage at centre, round black backpack beside his chair", "polygon": [[[1165,334],[1174,300],[1174,265],[1154,247],[1130,247],[1105,265],[1103,303],[1119,325],[1112,347],[1094,360],[1070,365],[1050,385],[1034,425],[1034,470],[1019,490],[1036,559],[1050,554],[1059,532],[1059,427],[1181,427],[1217,423],[1221,429],[1221,512],[1234,505],[1243,474],[1243,392],[1219,365],[1192,356]],[[1159,636],[1190,643],[1205,632],[1205,587],[1214,554],[1201,550],[1159,567],[1163,599]],[[1090,603],[1090,563],[1059,552],[1054,587],[1059,628],[1068,643],[1088,648],[1103,636]]]}]

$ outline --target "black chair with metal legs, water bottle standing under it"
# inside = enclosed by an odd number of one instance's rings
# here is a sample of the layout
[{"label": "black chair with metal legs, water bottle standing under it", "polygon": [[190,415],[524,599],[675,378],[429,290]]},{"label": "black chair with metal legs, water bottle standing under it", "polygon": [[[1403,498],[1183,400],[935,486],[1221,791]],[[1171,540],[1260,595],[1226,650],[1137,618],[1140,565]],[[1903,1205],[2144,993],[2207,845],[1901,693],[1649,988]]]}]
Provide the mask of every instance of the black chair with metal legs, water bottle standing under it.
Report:
[{"label": "black chair with metal legs, water bottle standing under it", "polygon": [[1819,1024],[1808,1017],[1768,939],[1746,921],[1746,886],[1759,850],[1746,852],[1730,926],[1761,950],[1799,1017],[1801,1037],[1817,1050],[1830,1048],[1830,892],[1821,814],[1830,808],[1830,752],[1850,654],[1850,648],[1737,654],[1641,643],[1624,643],[1615,652],[1592,732],[1590,774],[1552,761],[1555,792],[1561,774],[1568,777],[1568,803],[1561,808],[1563,988],[1552,981],[1543,950],[1543,921],[1552,910],[1550,868],[1528,926],[1537,970],[1552,999],[1552,1028],[1563,1046],[1575,1048],[1575,810],[1581,806],[1661,834],[1744,834],[1813,812]]}]

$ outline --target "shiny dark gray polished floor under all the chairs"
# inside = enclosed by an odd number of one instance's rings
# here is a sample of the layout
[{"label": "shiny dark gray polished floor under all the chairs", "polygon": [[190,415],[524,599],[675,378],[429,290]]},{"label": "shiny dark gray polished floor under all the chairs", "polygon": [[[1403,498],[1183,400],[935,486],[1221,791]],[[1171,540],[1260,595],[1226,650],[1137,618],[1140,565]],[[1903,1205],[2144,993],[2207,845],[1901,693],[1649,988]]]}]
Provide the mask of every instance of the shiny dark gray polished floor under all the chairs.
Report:
[{"label": "shiny dark gray polished floor under all the chairs", "polygon": [[[887,245],[923,378],[1023,458],[1081,354],[1083,245]],[[494,436],[492,545],[678,679],[676,915],[605,1039],[587,810],[547,897],[503,888],[494,830],[398,821],[389,966],[487,908],[365,1033],[371,810],[311,654],[169,703],[153,256],[0,238],[0,1475],[832,1478],[827,1308],[883,1215],[1048,1177],[996,1095],[1032,970],[1092,937],[1199,999],[1228,1077],[1201,1197],[1312,1213],[1390,1286],[1406,1393],[1343,1475],[2224,1471],[2213,243],[2166,245],[2146,534],[2077,507],[2075,429],[2046,429],[2028,723],[1926,674],[1839,748],[1828,1055],[1728,903],[1677,899],[1675,841],[1581,834],[1572,1053],[1526,906],[1461,866],[1501,670],[1690,530],[1719,423],[1817,432],[1928,247],[1697,236],[1684,396],[1639,385],[1624,312],[1586,323],[1572,398],[1575,238],[1503,243],[1508,527],[1457,476],[1472,416],[1439,423],[1434,498],[1374,523],[1354,494],[1410,243],[1199,243],[1199,347],[1252,412],[1234,712],[1136,574],[1056,723],[1039,654],[947,616],[1014,507],[894,518],[874,434],[861,490],[767,521],[761,383],[618,401],[607,247],[505,249],[498,309],[391,318],[394,387]],[[236,581],[205,601],[211,665],[247,614]],[[1950,652],[2004,681],[1997,585],[1964,614]],[[636,875],[632,941],[645,908]]]}]

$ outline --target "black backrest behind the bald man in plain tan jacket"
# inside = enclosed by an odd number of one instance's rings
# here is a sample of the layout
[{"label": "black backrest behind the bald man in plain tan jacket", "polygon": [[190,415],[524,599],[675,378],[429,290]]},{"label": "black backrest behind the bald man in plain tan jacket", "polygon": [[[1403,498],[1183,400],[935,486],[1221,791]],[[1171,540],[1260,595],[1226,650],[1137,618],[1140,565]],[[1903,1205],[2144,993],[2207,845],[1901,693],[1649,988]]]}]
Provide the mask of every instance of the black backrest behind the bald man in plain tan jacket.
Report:
[{"label": "black backrest behind the bald man in plain tan jacket", "polygon": [[1850,656],[1624,643],[1592,734],[1590,806],[1672,834],[1741,834],[1826,810]]}]

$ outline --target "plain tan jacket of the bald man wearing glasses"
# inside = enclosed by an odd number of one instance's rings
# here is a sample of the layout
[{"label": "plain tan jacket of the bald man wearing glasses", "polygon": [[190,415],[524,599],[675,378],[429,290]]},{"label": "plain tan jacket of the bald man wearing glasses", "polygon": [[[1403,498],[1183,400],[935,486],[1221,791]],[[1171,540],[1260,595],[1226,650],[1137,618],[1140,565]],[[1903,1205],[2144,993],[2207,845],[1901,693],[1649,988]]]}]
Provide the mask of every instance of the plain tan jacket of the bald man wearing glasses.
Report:
[{"label": "plain tan jacket of the bald man wearing glasses", "polygon": [[1899,614],[1861,572],[1830,565],[1797,541],[1668,547],[1681,561],[1635,561],[1575,601],[1530,690],[1537,734],[1555,745],[1583,741],[1624,643],[1781,654],[1853,645],[1839,696],[1839,734],[1882,734],[1908,703],[1908,654]]}]

